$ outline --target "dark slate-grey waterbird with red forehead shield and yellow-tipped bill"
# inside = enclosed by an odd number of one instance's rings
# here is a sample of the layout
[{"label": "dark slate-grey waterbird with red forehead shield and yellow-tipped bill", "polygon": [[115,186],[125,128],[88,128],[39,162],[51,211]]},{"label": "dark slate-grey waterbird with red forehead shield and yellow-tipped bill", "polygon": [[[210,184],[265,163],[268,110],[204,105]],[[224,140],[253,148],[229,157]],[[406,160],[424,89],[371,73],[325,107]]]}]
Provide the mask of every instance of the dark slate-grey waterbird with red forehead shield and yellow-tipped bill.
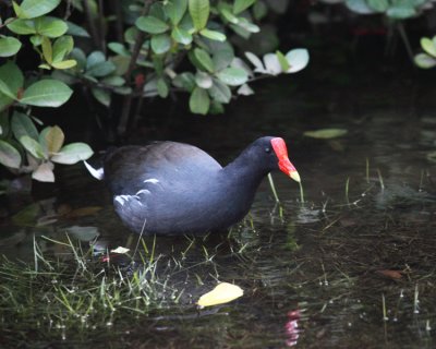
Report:
[{"label": "dark slate-grey waterbird with red forehead shield and yellow-tipped bill", "polygon": [[106,155],[101,169],[85,165],[109,185],[121,220],[146,234],[226,229],[247,214],[271,170],[300,181],[284,141],[271,136],[256,140],[226,167],[202,149],[177,142],[123,146]]}]

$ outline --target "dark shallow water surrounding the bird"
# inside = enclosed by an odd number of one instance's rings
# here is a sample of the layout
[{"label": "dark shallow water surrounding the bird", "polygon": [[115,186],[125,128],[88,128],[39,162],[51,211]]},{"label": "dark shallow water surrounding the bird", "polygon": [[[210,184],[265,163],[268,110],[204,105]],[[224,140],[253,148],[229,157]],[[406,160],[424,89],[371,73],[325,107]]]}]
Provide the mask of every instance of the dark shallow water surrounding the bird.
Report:
[{"label": "dark shallow water surrounding the bird", "polygon": [[[265,181],[250,216],[230,234],[157,238],[159,273],[181,265],[168,281],[183,290],[177,304],[167,302],[147,315],[123,313],[78,332],[31,321],[20,340],[4,329],[14,326],[2,317],[0,337],[8,339],[0,344],[434,348],[436,165],[426,158],[436,148],[434,94],[408,74],[358,70],[353,76],[340,85],[311,72],[270,81],[223,117],[156,113],[133,142],[194,143],[221,163],[261,134],[283,136],[303,179],[305,202],[298,185],[277,173],[280,205]],[[303,136],[332,127],[349,132],[335,140]],[[32,261],[35,237],[44,253],[68,258],[65,249],[43,238],[65,241],[65,231],[84,245],[98,234],[104,248],[135,249],[137,237],[120,224],[101,183],[82,166],[57,174],[55,186],[35,188],[36,197],[48,198],[2,197],[8,216],[0,227],[2,253]],[[153,243],[146,239],[148,246]],[[244,296],[198,311],[195,301],[217,280],[241,286]]]}]

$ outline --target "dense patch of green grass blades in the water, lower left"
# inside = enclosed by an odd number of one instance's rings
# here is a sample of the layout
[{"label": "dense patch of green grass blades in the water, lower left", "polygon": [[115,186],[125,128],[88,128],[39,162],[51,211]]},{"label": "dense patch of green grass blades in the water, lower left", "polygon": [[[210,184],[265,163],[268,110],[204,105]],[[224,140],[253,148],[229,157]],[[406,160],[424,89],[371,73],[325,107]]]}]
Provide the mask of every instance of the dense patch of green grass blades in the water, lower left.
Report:
[{"label": "dense patch of green grass blades in the water, lower left", "polygon": [[124,264],[112,263],[113,255],[97,258],[69,237],[66,242],[46,240],[66,249],[69,258],[45,256],[35,240],[33,263],[0,257],[0,347],[32,340],[35,330],[62,339],[66,332],[88,337],[89,329],[107,330],[126,314],[174,305],[183,293],[169,285],[173,270],[167,263],[158,273],[155,244],[150,252],[146,246],[136,252],[138,265],[124,255],[118,255],[128,258]]}]

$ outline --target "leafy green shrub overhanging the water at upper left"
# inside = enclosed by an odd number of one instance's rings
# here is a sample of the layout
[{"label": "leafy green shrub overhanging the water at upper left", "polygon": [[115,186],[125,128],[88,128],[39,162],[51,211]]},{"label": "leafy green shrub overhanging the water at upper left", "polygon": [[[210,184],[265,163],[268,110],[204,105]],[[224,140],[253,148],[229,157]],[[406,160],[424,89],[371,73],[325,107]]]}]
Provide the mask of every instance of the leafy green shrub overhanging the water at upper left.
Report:
[{"label": "leafy green shrub overhanging the water at upper left", "polygon": [[[53,163],[74,164],[93,154],[83,143],[62,146],[59,127],[39,132],[41,122],[32,116],[33,107],[66,103],[73,85],[90,91],[108,108],[114,94],[124,96],[118,125],[124,133],[133,99],[185,92],[192,112],[222,112],[233,96],[253,94],[250,84],[259,76],[304,69],[305,49],[263,59],[253,52],[245,52],[246,60],[235,55],[229,35],[247,39],[259,33],[255,21],[267,8],[261,0],[12,2],[0,27],[5,33],[0,57],[8,59],[0,65],[0,164],[53,181]],[[107,43],[109,37],[114,39]],[[25,45],[40,60],[26,74],[16,59]]]}]

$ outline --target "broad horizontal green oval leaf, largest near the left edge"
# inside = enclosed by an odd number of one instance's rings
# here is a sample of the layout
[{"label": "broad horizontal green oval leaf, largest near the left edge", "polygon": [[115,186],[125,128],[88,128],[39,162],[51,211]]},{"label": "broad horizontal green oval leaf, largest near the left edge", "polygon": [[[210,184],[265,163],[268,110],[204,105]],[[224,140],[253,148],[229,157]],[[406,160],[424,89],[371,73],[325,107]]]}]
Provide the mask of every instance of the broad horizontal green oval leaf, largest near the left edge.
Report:
[{"label": "broad horizontal green oval leaf, largest near the left edge", "polygon": [[57,80],[38,81],[24,91],[21,103],[37,107],[59,107],[70,99],[73,91]]}]

